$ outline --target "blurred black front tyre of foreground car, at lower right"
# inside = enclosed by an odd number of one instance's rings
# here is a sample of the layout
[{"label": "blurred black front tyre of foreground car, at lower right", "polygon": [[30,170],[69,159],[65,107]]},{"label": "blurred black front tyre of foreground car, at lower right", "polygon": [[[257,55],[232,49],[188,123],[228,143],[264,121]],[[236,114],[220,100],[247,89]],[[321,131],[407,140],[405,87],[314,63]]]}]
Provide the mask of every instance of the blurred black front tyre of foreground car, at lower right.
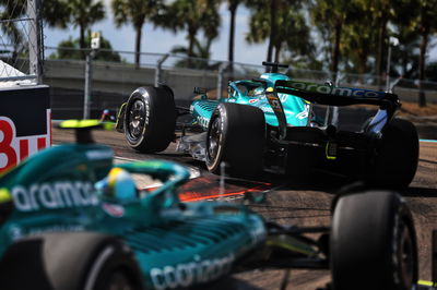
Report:
[{"label": "blurred black front tyre of foreground car, at lower right", "polygon": [[417,281],[414,223],[393,192],[339,198],[330,235],[333,289],[413,289]]}]

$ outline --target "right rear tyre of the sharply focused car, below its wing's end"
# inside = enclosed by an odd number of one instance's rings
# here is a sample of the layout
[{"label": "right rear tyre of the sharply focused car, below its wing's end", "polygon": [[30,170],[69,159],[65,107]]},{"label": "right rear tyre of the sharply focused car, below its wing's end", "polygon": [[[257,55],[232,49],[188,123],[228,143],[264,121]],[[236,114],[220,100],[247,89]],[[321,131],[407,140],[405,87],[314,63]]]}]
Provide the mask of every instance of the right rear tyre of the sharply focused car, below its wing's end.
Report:
[{"label": "right rear tyre of the sharply focused car, below its wing's end", "polygon": [[393,119],[382,130],[367,183],[373,186],[402,189],[409,186],[417,169],[418,136],[413,123]]}]

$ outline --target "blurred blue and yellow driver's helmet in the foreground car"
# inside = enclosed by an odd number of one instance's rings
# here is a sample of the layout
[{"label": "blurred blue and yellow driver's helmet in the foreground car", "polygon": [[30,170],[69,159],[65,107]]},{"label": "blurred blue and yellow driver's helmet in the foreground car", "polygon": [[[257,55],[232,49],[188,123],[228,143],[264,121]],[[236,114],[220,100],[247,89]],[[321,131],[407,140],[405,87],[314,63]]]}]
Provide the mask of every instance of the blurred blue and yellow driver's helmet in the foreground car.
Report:
[{"label": "blurred blue and yellow driver's helmet in the foreground car", "polygon": [[132,177],[128,171],[117,167],[96,183],[96,189],[103,196],[118,201],[133,201],[137,197],[137,186]]}]

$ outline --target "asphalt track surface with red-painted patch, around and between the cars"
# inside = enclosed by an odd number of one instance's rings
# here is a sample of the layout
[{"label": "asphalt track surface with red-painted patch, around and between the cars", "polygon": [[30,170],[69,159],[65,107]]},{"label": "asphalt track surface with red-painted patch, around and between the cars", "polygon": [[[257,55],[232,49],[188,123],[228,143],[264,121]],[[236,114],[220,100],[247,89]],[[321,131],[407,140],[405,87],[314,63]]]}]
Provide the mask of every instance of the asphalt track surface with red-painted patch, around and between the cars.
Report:
[{"label": "asphalt track surface with red-painted patch, around and between the cars", "polygon": [[[72,142],[73,132],[54,129],[54,144]],[[95,131],[96,142],[110,146],[115,155],[126,159],[169,159],[201,171],[182,186],[180,197],[186,202],[216,200],[222,190],[222,200],[241,203],[245,192],[267,192],[264,204],[249,205],[267,219],[283,225],[329,226],[330,203],[343,184],[330,178],[315,178],[296,183],[280,176],[265,174],[261,181],[225,179],[224,189],[220,189],[220,178],[205,171],[202,162],[193,161],[189,156],[174,152],[174,144],[167,150],[156,155],[139,154],[130,149],[123,135],[109,131]],[[317,180],[317,183],[315,182]],[[437,229],[437,143],[421,142],[420,162],[414,181],[401,192],[413,213],[418,251],[420,279],[429,280],[432,269],[432,230]],[[280,289],[284,270],[253,270],[233,275],[222,279],[208,289]],[[292,270],[287,289],[316,289],[330,281],[329,270]],[[359,281],[357,281],[359,282]]]}]

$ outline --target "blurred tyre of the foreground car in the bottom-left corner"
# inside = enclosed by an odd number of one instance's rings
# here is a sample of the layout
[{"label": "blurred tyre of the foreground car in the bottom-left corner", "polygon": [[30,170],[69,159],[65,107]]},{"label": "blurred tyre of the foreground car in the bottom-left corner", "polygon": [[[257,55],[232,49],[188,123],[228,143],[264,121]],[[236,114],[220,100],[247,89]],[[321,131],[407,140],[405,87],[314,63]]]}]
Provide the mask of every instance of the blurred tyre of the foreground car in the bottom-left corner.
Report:
[{"label": "blurred tyre of the foreground car in the bottom-left corner", "polygon": [[143,289],[129,247],[92,233],[46,233],[12,244],[0,262],[2,289]]}]

